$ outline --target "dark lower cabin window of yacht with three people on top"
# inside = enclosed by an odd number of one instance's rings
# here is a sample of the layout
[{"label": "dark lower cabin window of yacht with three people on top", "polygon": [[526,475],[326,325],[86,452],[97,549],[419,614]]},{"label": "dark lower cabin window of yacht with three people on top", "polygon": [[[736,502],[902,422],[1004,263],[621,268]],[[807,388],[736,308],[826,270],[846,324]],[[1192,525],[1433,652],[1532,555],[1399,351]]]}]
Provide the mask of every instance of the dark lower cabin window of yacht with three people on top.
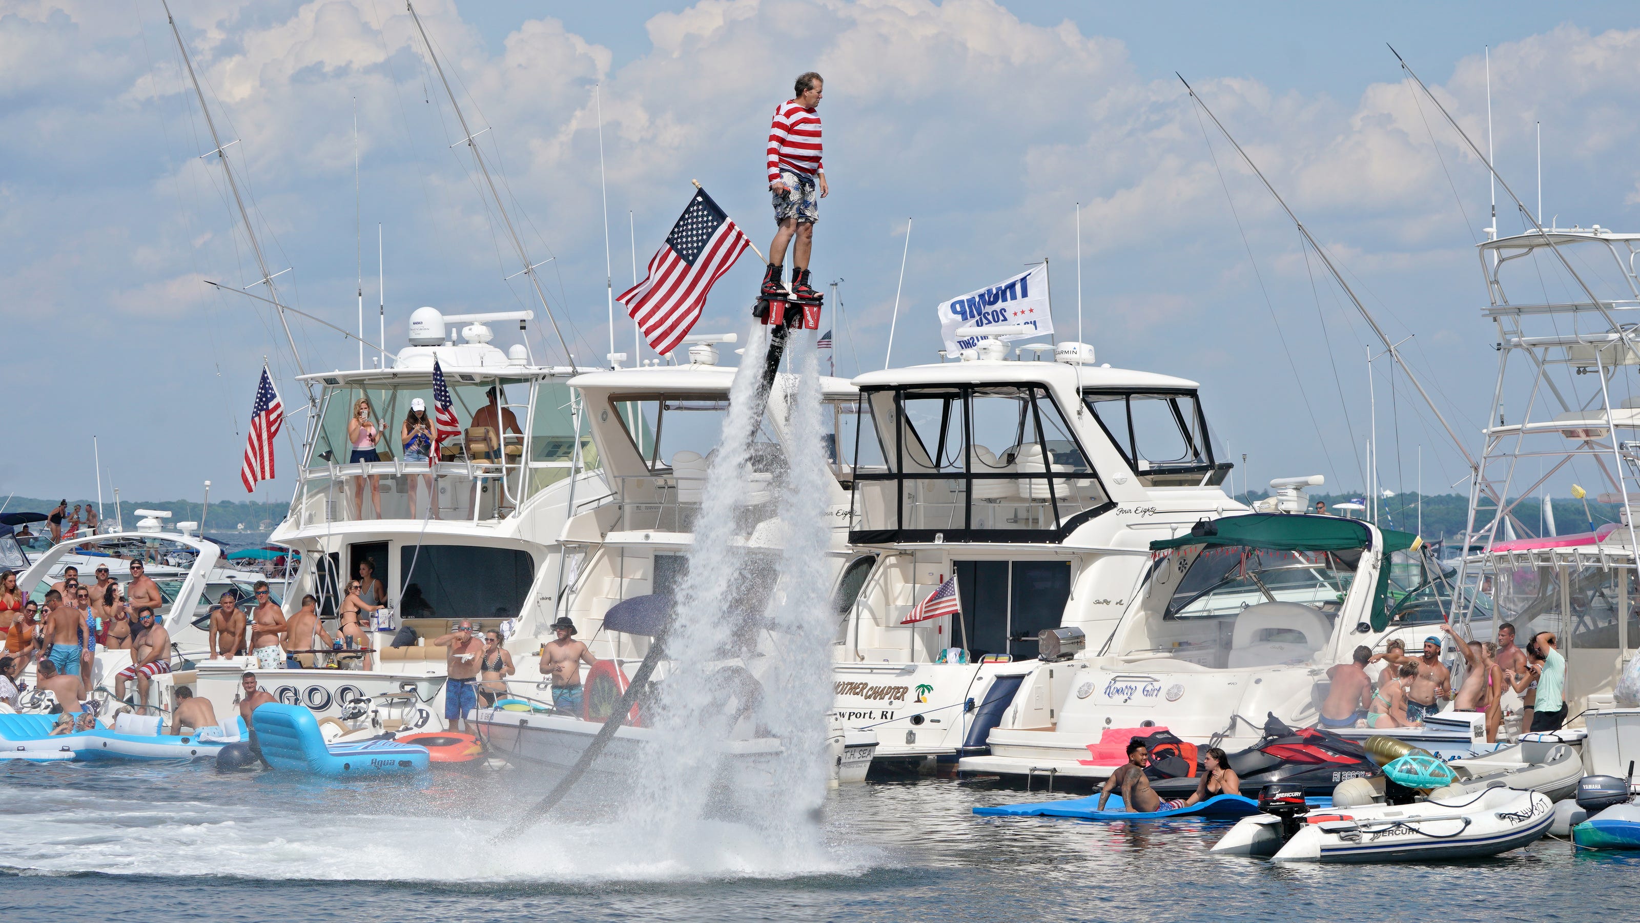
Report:
[{"label": "dark lower cabin window of yacht with three people on top", "polygon": [[535,579],[528,551],[472,544],[399,549],[402,618],[513,618]]}]

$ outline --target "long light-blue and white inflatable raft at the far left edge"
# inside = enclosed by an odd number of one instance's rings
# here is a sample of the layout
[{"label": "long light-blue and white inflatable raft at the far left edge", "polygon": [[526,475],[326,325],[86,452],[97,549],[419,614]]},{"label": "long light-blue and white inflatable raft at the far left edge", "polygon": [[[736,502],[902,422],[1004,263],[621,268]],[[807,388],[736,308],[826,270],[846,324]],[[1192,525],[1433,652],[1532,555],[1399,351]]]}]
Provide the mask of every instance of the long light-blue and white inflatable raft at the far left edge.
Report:
[{"label": "long light-blue and white inflatable raft at the far left edge", "polygon": [[244,736],[235,718],[235,736],[162,734],[157,715],[120,715],[115,728],[51,736],[59,715],[0,715],[0,744],[10,759],[195,759],[213,757],[225,744]]}]

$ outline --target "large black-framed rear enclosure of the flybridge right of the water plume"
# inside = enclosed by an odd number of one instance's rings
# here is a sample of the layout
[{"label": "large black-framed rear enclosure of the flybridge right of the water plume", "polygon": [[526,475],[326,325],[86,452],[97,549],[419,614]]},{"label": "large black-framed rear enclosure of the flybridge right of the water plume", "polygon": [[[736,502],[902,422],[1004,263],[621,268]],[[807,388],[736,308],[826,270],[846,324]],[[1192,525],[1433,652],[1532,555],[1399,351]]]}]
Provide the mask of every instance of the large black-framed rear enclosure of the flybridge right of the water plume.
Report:
[{"label": "large black-framed rear enclosure of the flybridge right of the water plume", "polygon": [[1109,505],[1041,385],[868,389],[861,403],[853,541],[1059,541]]}]

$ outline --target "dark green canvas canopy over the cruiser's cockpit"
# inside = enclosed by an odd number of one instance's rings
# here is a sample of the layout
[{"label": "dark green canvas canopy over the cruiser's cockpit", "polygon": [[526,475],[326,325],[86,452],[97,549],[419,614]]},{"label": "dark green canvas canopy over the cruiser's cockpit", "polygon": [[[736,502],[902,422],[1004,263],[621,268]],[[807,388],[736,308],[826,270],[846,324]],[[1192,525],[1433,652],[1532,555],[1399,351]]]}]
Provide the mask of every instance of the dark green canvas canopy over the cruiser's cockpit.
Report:
[{"label": "dark green canvas canopy over the cruiser's cockpit", "polygon": [[[1389,556],[1419,548],[1422,539],[1412,533],[1379,530],[1384,536],[1379,549],[1378,587],[1373,592],[1373,631],[1389,625]],[[1312,516],[1309,513],[1250,513],[1202,520],[1191,526],[1189,534],[1150,543],[1151,551],[1173,548],[1260,548],[1266,551],[1351,551],[1373,546],[1373,530],[1361,520],[1343,516]]]}]

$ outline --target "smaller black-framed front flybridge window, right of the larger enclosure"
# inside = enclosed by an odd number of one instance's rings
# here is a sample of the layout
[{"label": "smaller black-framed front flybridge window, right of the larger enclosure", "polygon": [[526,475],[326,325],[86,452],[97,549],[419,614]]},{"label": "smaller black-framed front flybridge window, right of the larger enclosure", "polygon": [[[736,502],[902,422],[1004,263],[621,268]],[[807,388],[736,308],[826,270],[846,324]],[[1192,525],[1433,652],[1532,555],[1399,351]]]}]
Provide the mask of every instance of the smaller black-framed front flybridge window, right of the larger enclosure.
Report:
[{"label": "smaller black-framed front flybridge window, right of the larger enclosure", "polygon": [[1084,390],[1082,402],[1146,487],[1214,485],[1230,471],[1194,392]]}]

